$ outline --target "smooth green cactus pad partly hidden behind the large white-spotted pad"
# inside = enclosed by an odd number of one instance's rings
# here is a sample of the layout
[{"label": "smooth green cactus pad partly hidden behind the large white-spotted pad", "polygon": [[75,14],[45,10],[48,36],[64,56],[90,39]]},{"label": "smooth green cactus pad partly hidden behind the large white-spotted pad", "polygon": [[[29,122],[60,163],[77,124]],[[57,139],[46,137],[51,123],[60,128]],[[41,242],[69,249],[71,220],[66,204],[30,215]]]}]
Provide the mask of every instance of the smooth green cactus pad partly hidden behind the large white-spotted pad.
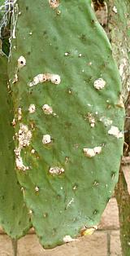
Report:
[{"label": "smooth green cactus pad partly hidden behind the large white-spotted pad", "polygon": [[[7,92],[7,58],[0,54],[0,225],[12,238],[28,232],[30,218],[15,174],[15,154],[11,125],[11,95]],[[11,92],[11,91],[10,91]]]}]

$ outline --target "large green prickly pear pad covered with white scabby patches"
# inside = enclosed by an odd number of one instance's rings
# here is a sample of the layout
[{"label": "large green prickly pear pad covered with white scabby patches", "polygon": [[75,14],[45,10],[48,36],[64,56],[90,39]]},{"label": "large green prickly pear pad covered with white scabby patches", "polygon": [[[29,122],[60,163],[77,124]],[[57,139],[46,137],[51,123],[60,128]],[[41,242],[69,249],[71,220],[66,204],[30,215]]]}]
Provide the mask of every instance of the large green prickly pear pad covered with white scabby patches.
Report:
[{"label": "large green prickly pear pad covered with white scabby patches", "polygon": [[91,2],[17,0],[10,77],[15,165],[49,249],[98,224],[118,179],[124,105]]}]

